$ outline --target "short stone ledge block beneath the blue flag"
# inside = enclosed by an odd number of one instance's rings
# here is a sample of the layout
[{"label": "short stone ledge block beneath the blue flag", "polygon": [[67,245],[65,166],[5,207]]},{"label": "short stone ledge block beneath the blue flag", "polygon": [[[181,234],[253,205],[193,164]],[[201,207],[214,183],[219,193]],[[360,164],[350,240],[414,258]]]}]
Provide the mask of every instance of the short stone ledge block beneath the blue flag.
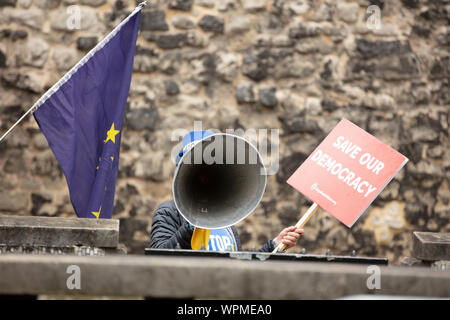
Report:
[{"label": "short stone ledge block beneath the blue flag", "polygon": [[116,248],[119,220],[0,216],[0,244]]}]

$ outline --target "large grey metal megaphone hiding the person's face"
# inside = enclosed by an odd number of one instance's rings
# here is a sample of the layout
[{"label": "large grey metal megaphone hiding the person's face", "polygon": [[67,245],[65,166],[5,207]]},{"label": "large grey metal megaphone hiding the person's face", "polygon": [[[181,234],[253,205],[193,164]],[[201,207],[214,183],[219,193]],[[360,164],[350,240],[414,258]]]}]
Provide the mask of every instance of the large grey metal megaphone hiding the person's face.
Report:
[{"label": "large grey metal megaphone hiding the person's face", "polygon": [[225,228],[256,208],[266,181],[261,155],[250,142],[232,134],[213,134],[196,142],[180,159],[173,198],[192,225]]}]

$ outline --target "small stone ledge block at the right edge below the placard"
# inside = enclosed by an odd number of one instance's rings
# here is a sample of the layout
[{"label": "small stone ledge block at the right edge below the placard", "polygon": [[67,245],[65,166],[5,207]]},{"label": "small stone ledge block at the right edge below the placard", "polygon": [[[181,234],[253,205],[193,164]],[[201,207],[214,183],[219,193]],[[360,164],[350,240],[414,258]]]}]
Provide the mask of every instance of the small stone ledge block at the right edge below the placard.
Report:
[{"label": "small stone ledge block at the right edge below the placard", "polygon": [[420,260],[450,260],[450,233],[413,232],[413,256]]}]

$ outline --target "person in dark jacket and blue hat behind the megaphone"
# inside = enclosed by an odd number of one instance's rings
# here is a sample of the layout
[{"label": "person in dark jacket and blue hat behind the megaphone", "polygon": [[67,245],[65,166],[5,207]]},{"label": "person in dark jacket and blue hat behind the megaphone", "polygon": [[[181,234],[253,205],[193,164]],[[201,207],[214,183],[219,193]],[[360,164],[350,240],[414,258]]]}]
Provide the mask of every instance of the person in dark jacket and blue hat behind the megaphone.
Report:
[{"label": "person in dark jacket and blue hat behind the megaphone", "polygon": [[[175,162],[178,165],[181,157],[194,143],[209,135],[210,131],[191,131],[183,137],[182,150],[177,154]],[[164,202],[156,209],[150,232],[150,247],[163,249],[191,249],[194,226],[187,222],[178,212],[173,200]],[[258,251],[272,252],[280,243],[286,248],[295,246],[303,229],[295,226],[285,228],[273,240],[267,241]],[[241,241],[235,226],[213,229],[209,235],[208,250],[210,251],[242,251]]]}]

